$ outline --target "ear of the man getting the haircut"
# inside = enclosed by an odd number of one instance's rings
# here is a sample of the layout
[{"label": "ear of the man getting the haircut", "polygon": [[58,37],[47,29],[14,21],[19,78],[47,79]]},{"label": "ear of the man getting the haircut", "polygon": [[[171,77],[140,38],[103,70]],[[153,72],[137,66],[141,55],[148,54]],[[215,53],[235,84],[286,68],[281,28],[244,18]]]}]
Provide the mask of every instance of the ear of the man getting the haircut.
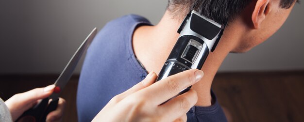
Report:
[{"label": "ear of the man getting the haircut", "polygon": [[270,13],[270,4],[269,0],[257,0],[255,8],[253,10],[252,22],[254,29],[258,29],[261,26],[261,23],[265,19],[266,15]]}]

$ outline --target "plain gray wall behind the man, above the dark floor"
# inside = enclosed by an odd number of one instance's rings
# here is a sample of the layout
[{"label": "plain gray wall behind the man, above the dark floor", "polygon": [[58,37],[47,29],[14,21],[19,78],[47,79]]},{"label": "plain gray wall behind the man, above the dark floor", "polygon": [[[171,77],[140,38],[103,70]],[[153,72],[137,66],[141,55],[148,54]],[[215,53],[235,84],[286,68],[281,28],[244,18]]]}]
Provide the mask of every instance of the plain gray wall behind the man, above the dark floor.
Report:
[{"label": "plain gray wall behind the man, above the dark floor", "polygon": [[[131,13],[156,24],[166,5],[167,0],[0,0],[0,74],[60,73],[94,27]],[[303,12],[303,4],[296,5],[266,43],[230,54],[220,71],[303,70]]]}]

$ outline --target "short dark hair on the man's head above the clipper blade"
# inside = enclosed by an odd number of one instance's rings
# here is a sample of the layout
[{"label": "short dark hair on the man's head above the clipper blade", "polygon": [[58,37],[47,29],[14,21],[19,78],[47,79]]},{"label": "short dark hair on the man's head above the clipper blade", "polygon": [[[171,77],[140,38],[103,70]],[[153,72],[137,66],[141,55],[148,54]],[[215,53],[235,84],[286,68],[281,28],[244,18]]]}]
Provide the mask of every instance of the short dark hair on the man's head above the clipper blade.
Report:
[{"label": "short dark hair on the man's head above the clipper blade", "polygon": [[[186,15],[190,10],[218,23],[227,23],[239,15],[253,0],[169,0],[167,9],[174,16]],[[296,0],[281,0],[280,7],[290,8]]]}]

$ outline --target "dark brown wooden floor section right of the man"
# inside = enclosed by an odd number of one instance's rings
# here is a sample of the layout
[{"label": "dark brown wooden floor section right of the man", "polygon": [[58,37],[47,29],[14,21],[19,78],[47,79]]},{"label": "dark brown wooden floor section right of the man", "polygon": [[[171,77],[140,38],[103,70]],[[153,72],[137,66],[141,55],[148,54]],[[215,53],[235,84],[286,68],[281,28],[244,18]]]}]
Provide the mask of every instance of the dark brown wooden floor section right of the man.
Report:
[{"label": "dark brown wooden floor section right of the man", "polygon": [[221,73],[213,89],[234,122],[304,122],[304,71]]}]

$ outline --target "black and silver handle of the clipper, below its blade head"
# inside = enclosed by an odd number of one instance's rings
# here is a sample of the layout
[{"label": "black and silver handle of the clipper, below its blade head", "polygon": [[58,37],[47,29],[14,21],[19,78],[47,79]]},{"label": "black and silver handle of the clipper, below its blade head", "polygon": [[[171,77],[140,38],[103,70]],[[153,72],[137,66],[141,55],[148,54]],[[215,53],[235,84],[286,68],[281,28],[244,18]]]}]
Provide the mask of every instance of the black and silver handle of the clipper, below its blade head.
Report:
[{"label": "black and silver handle of the clipper, below its blade head", "polygon": [[[185,70],[201,69],[208,54],[209,48],[202,39],[192,35],[179,37],[156,81]],[[189,91],[190,88],[191,86],[182,90],[176,96]]]}]

